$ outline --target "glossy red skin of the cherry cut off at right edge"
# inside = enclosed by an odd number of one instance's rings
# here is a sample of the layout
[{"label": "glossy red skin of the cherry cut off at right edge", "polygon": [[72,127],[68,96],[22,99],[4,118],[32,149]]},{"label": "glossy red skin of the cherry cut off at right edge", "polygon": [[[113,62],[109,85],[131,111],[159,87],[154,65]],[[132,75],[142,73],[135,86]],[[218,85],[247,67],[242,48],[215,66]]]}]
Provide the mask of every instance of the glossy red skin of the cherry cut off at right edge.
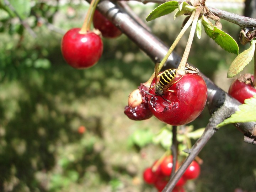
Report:
[{"label": "glossy red skin of the cherry cut off at right edge", "polygon": [[[251,80],[254,80],[253,75],[251,75]],[[236,79],[231,83],[228,93],[240,103],[244,103],[245,99],[251,98],[256,94],[256,89],[251,84],[246,84]]]}]

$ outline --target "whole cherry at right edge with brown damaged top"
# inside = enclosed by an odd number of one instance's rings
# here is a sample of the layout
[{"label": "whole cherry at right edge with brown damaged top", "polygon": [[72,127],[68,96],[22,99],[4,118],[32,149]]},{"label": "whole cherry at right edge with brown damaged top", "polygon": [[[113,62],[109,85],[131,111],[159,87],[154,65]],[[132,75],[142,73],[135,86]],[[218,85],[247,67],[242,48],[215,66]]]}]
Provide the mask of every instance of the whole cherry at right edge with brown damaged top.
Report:
[{"label": "whole cherry at right edge with brown damaged top", "polygon": [[253,97],[256,94],[256,89],[252,85],[254,76],[251,74],[244,74],[238,79],[234,80],[229,87],[229,95],[234,97],[240,103],[244,103],[247,98]]}]

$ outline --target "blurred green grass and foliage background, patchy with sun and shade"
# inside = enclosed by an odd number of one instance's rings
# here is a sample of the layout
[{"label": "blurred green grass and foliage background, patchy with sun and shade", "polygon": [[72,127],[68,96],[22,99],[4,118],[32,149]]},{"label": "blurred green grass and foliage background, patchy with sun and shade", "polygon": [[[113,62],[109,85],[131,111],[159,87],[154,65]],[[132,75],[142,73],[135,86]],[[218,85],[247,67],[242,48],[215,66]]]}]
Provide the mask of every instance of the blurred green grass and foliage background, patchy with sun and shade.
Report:
[{"label": "blurred green grass and foliage background, patchy with sun and shade", "polygon": [[[123,108],[129,93],[153,73],[154,64],[122,35],[104,39],[103,56],[94,67],[71,68],[62,58],[59,32],[80,27],[87,5],[33,2],[25,21],[35,38],[17,16],[0,10],[0,191],[152,191],[143,183],[142,172],[164,150],[147,143],[164,125],[154,117],[131,121]],[[152,7],[133,8],[145,18]],[[165,17],[147,24],[171,44],[182,20],[166,25]],[[225,22],[223,27],[236,36],[237,27]],[[176,50],[179,54],[185,39]],[[189,61],[213,80],[216,71],[227,69],[233,60],[203,35],[193,47]],[[227,81],[225,76],[221,80]],[[192,124],[204,127],[208,119],[205,110]],[[81,125],[86,127],[82,134]],[[139,143],[143,148],[133,148],[129,138],[144,131],[149,136]],[[220,129],[200,157],[202,174],[188,191],[255,191],[255,146],[243,143],[234,127]]]}]

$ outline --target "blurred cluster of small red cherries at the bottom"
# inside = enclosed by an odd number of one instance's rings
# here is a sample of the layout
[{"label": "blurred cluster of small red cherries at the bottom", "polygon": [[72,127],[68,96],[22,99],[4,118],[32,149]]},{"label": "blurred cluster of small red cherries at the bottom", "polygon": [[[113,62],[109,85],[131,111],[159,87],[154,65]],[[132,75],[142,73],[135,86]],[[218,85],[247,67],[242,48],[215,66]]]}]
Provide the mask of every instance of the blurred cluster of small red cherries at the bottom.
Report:
[{"label": "blurred cluster of small red cherries at the bottom", "polygon": [[[161,162],[156,160],[152,167],[147,167],[143,172],[143,179],[147,184],[154,185],[157,190],[162,191],[170,180],[173,161],[172,155],[166,156]],[[176,164],[176,169],[178,164]],[[172,192],[185,192],[183,186],[187,180],[196,179],[200,174],[200,166],[196,161],[192,161],[190,166],[184,172],[180,180],[176,183],[176,186]]]}]

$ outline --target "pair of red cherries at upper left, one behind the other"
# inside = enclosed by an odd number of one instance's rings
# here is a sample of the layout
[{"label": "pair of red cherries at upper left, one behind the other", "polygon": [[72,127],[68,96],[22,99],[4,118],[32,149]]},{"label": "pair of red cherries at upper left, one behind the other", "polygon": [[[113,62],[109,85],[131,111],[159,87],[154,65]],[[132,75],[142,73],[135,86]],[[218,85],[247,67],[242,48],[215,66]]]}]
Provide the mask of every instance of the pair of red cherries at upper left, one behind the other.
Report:
[{"label": "pair of red cherries at upper left, one behind the other", "polygon": [[86,27],[73,28],[62,38],[61,50],[65,61],[75,69],[86,69],[95,65],[101,58],[103,42],[101,36],[115,38],[122,32],[100,12],[93,15],[95,30]]}]

